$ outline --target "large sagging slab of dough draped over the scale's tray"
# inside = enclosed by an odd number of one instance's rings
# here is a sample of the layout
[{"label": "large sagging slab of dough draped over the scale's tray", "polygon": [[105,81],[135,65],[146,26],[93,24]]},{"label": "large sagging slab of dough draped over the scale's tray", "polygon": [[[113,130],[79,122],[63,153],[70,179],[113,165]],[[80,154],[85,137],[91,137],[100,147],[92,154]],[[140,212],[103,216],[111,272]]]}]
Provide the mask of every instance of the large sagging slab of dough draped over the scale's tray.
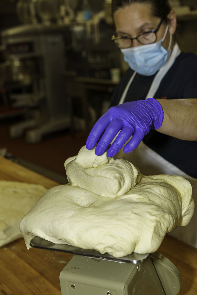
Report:
[{"label": "large sagging slab of dough draped over the scale's tray", "polygon": [[166,232],[194,211],[191,184],[181,176],[141,176],[126,194],[100,196],[76,186],[49,189],[22,219],[27,248],[39,236],[115,257],[155,252]]}]

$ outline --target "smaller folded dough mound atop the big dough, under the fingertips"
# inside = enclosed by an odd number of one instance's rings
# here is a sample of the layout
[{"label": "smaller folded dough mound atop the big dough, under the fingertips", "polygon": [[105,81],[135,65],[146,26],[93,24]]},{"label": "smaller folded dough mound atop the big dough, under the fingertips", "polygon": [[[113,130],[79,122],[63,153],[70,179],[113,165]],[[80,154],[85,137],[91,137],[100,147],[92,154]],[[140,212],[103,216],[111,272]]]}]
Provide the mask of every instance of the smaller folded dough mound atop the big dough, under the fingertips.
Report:
[{"label": "smaller folded dough mound atop the big dough, under the fingertips", "polygon": [[64,163],[69,184],[100,196],[115,198],[127,193],[140,180],[140,171],[123,159],[95,155],[95,148],[82,147]]}]

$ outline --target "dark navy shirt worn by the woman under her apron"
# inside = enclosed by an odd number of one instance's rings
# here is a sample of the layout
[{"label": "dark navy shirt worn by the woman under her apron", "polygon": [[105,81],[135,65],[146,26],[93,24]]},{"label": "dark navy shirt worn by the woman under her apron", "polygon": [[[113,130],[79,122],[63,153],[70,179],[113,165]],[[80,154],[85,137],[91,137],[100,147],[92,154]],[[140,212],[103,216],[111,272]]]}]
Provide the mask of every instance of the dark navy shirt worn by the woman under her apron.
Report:
[{"label": "dark navy shirt worn by the woman under her apron", "polygon": [[[121,79],[111,106],[118,105],[128,81],[133,75],[130,68]],[[156,75],[156,74],[155,74]],[[151,87],[153,76],[136,74],[128,89],[124,102],[142,100],[146,98]],[[170,70],[162,79],[155,99],[186,99],[197,98],[197,55],[194,53],[180,53]],[[151,130],[144,137],[143,142],[170,163],[188,175],[197,178],[197,142],[181,140],[175,137]]]}]

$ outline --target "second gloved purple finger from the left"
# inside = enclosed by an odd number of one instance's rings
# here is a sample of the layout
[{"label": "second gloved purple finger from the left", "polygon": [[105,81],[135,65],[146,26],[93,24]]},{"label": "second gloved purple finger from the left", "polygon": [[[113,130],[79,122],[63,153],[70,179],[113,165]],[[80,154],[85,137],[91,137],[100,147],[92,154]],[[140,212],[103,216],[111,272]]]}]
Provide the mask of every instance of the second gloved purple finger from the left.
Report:
[{"label": "second gloved purple finger from the left", "polygon": [[103,133],[101,139],[99,140],[96,148],[95,154],[97,156],[102,155],[110,145],[110,142],[116,136],[116,134],[123,128],[123,121],[121,119],[114,119],[108,125],[105,132]]}]

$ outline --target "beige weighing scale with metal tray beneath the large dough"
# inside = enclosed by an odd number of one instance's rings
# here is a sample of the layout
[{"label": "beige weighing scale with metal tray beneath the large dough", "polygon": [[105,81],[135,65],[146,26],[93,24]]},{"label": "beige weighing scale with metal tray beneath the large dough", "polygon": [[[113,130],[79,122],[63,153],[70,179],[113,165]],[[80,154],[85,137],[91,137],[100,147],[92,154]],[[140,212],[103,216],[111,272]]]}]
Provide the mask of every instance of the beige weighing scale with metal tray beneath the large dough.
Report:
[{"label": "beige weighing scale with metal tray beneath the large dough", "polygon": [[34,237],[30,246],[75,254],[60,273],[62,295],[177,295],[182,277],[159,252],[115,258]]}]

